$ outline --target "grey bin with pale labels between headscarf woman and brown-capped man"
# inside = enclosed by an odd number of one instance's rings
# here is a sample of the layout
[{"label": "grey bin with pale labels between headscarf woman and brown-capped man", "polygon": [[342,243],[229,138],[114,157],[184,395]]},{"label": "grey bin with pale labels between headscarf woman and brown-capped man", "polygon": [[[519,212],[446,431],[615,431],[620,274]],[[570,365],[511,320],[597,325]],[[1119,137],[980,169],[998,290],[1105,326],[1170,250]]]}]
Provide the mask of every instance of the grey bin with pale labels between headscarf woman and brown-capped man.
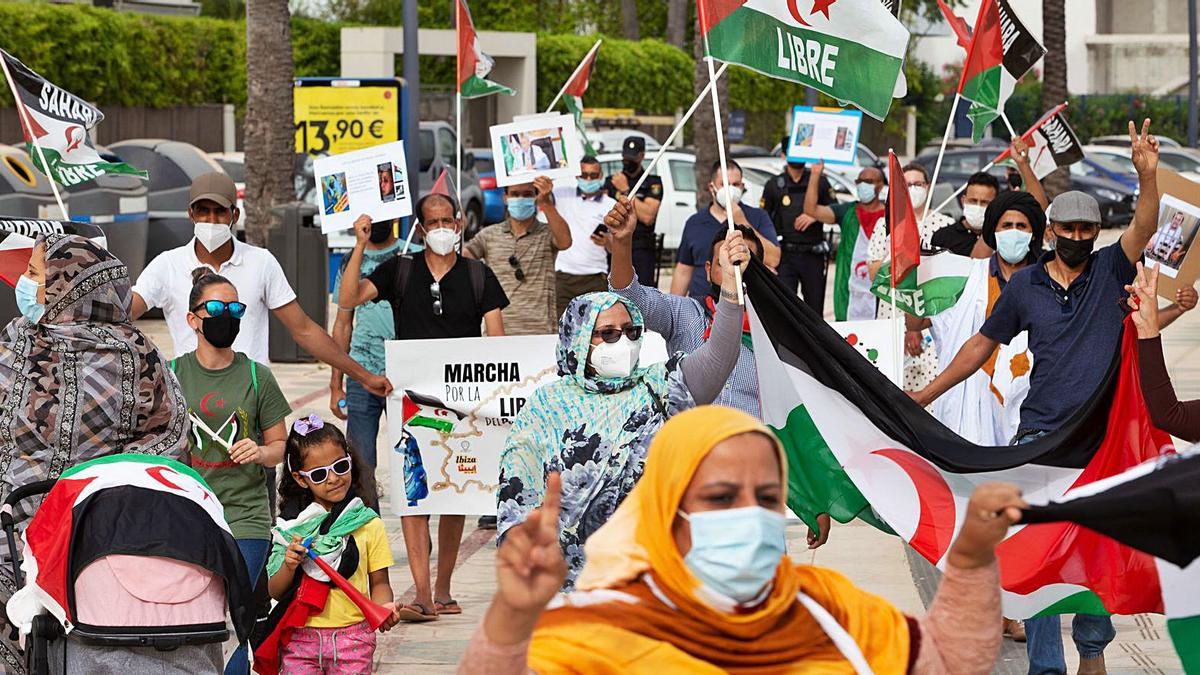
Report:
[{"label": "grey bin with pale labels between headscarf woman and brown-capped man", "polygon": [[70,189],[71,220],[104,231],[108,250],[130,268],[137,282],[146,263],[150,215],[146,181],[132,175],[101,175]]}]

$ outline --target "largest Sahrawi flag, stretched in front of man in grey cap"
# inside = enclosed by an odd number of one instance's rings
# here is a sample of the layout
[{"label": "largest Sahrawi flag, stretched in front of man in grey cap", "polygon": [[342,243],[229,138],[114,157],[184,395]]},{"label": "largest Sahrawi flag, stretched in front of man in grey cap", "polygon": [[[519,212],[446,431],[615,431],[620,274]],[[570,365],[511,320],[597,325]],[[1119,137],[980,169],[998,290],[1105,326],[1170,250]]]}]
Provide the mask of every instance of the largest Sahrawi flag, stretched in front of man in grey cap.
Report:
[{"label": "largest Sahrawi flag, stretched in front of man in grey cap", "polygon": [[[1062,429],[988,448],[934,419],[761,265],[746,285],[763,420],[788,454],[788,507],[811,527],[820,513],[862,518],[942,565],[979,483],[1014,483],[1046,503],[1174,452],[1150,422],[1128,325],[1102,386]],[[1073,522],[1013,527],[997,555],[1004,616],[1168,611],[1176,649],[1200,668],[1184,641],[1200,644],[1200,565],[1181,569]]]}]

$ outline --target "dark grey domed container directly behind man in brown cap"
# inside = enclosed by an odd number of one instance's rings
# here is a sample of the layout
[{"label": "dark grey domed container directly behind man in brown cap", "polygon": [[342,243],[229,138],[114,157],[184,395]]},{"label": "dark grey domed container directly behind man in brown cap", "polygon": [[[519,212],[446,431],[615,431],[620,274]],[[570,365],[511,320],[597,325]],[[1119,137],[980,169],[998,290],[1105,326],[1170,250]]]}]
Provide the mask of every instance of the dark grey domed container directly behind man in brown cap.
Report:
[{"label": "dark grey domed container directly behind man in brown cap", "polygon": [[190,143],[154,138],[134,138],[113,143],[108,149],[121,160],[150,173],[146,202],[150,232],[145,262],[158,253],[192,240],[192,221],[187,215],[192,179],[220,172],[204,150]]}]

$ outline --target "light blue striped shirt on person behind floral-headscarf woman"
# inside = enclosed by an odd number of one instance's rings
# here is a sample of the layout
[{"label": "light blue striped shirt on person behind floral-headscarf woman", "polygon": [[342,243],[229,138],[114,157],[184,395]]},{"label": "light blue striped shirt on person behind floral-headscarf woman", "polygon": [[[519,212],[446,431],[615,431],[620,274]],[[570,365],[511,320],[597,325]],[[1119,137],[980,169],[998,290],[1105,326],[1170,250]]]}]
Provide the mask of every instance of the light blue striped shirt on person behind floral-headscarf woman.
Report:
[{"label": "light blue striped shirt on person behind floral-headscarf woman", "polygon": [[[662,335],[667,341],[667,352],[690,354],[704,344],[709,317],[700,301],[642,286],[637,282],[636,274],[626,288],[613,288],[610,282],[608,289],[634,303],[642,312],[647,330]],[[739,347],[733,372],[713,402],[761,417],[758,372],[755,369],[754,352],[744,342]]]}]

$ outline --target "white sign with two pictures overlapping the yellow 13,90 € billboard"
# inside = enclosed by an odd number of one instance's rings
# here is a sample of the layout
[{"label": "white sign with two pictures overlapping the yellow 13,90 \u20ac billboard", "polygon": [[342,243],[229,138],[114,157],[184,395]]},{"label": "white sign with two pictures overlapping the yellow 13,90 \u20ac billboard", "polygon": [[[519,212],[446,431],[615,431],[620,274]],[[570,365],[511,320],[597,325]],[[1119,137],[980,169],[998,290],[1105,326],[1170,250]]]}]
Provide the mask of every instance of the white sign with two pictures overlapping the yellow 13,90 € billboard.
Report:
[{"label": "white sign with two pictures overlapping the yellow 13,90 \u20ac billboard", "polygon": [[320,231],[348,229],[361,214],[372,222],[412,215],[406,166],[402,141],[313,160],[320,189]]}]

